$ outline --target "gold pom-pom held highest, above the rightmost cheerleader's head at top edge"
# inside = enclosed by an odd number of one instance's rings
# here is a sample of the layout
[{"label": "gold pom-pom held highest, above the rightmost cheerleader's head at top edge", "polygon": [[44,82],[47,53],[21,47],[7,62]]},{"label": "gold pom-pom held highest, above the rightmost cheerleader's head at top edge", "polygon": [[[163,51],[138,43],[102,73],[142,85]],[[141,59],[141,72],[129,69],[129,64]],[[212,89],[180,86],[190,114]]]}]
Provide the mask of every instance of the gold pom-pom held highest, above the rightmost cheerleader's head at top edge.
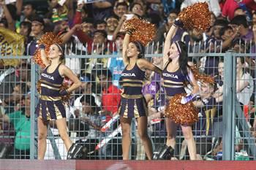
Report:
[{"label": "gold pom-pom held highest, above the rightmost cheerleader's head at top edge", "polygon": [[197,31],[206,31],[210,27],[211,12],[207,2],[198,2],[183,9],[178,18],[189,30],[195,28]]}]

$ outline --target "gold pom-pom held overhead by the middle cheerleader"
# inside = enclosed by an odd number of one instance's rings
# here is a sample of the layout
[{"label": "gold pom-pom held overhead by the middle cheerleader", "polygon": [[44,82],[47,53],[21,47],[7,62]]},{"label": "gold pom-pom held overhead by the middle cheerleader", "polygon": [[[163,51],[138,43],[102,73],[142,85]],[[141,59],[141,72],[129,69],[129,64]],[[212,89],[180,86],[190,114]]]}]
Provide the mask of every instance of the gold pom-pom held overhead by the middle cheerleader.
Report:
[{"label": "gold pom-pom held overhead by the middle cheerleader", "polygon": [[127,20],[124,23],[124,29],[125,31],[132,31],[131,42],[140,42],[143,46],[148,45],[148,42],[151,42],[156,35],[154,24],[138,18]]}]

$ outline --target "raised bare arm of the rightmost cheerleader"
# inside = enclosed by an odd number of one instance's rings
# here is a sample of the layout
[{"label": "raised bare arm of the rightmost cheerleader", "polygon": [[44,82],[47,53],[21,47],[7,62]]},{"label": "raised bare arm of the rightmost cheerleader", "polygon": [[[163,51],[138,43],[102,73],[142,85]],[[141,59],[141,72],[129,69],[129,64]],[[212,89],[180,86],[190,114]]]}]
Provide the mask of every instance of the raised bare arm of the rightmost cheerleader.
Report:
[{"label": "raised bare arm of the rightmost cheerleader", "polygon": [[165,45],[164,45],[164,58],[163,58],[163,64],[164,66],[166,65],[166,63],[169,61],[168,58],[168,51],[170,49],[170,42],[171,39],[173,39],[173,36],[175,36],[176,31],[178,30],[178,26],[182,26],[183,24],[181,23],[181,20],[178,20],[178,18],[175,20],[173,26],[170,27],[170,30],[168,31],[168,34],[165,38]]}]

